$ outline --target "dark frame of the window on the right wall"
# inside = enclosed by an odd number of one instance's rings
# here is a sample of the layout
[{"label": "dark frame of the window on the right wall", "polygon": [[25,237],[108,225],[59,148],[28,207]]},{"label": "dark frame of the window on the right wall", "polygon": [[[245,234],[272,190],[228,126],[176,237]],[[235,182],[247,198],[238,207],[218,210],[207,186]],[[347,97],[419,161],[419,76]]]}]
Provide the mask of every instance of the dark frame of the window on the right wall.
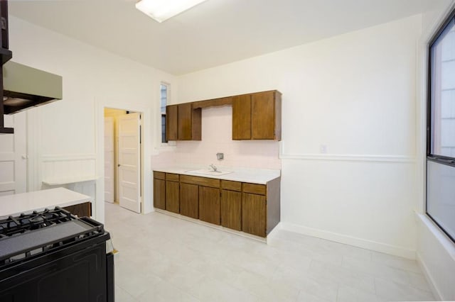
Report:
[{"label": "dark frame of the window on the right wall", "polygon": [[[444,164],[450,167],[455,167],[455,157],[450,157],[446,155],[434,155],[432,154],[432,139],[433,139],[433,128],[432,128],[432,121],[433,121],[433,107],[432,107],[432,72],[434,70],[432,65],[432,47],[434,43],[439,40],[441,34],[444,33],[447,26],[450,25],[451,22],[455,23],[455,9],[449,13],[444,19],[444,22],[441,23],[441,26],[437,29],[437,31],[432,35],[432,38],[429,40],[428,47],[427,47],[427,54],[428,54],[428,61],[427,61],[427,156],[425,159],[425,167],[428,167],[428,162],[436,162],[437,164]],[[439,229],[446,234],[453,242],[455,242],[455,237],[452,236],[448,231],[444,230],[441,224],[428,212],[428,170],[426,172],[425,177],[425,213],[427,216],[439,227]]]}]

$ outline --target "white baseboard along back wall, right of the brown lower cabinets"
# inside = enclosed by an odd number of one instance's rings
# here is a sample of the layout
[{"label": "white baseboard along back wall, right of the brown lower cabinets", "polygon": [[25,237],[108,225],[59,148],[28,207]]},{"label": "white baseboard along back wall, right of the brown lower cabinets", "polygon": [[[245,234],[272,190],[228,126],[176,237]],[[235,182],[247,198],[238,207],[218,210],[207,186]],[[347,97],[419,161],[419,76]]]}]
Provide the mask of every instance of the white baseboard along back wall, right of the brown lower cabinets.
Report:
[{"label": "white baseboard along back wall, right of the brown lower cabinets", "polygon": [[415,251],[408,250],[404,247],[397,247],[394,245],[387,245],[381,242],[375,242],[372,240],[365,240],[358,237],[352,237],[348,235],[332,233],[325,230],[318,230],[315,228],[308,228],[302,225],[295,225],[293,223],[280,223],[282,230],[289,230],[291,232],[309,235],[313,237],[319,237],[321,239],[331,240],[340,242],[346,245],[353,245],[367,250],[374,250],[376,252],[383,252],[385,254],[395,255],[399,257],[405,257],[408,259],[415,259]]}]

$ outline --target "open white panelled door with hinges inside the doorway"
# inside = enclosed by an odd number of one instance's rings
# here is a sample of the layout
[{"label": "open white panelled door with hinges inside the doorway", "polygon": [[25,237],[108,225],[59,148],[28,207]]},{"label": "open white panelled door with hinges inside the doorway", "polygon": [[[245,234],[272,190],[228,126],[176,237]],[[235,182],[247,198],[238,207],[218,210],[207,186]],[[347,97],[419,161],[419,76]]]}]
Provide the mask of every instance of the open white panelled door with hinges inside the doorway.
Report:
[{"label": "open white panelled door with hinges inside the doorway", "polygon": [[141,213],[141,146],[139,113],[118,116],[119,202],[120,206]]}]

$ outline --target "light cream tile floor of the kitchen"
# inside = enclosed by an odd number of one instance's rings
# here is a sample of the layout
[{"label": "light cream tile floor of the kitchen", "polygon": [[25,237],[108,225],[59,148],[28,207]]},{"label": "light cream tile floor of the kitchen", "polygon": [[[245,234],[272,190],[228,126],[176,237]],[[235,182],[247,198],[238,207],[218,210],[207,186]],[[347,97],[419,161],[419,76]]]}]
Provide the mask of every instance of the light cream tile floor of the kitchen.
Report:
[{"label": "light cream tile floor of the kitchen", "polygon": [[416,262],[277,231],[266,245],[105,204],[117,302],[432,301]]}]

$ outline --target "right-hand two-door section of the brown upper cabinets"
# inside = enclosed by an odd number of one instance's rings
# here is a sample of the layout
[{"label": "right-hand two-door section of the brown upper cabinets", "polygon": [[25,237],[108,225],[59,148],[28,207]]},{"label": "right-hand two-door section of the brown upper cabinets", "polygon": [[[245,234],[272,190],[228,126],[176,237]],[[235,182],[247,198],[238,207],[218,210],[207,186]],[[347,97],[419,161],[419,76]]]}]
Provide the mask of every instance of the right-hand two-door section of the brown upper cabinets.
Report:
[{"label": "right-hand two-door section of the brown upper cabinets", "polygon": [[277,90],[232,99],[232,140],[281,140],[282,94]]}]

